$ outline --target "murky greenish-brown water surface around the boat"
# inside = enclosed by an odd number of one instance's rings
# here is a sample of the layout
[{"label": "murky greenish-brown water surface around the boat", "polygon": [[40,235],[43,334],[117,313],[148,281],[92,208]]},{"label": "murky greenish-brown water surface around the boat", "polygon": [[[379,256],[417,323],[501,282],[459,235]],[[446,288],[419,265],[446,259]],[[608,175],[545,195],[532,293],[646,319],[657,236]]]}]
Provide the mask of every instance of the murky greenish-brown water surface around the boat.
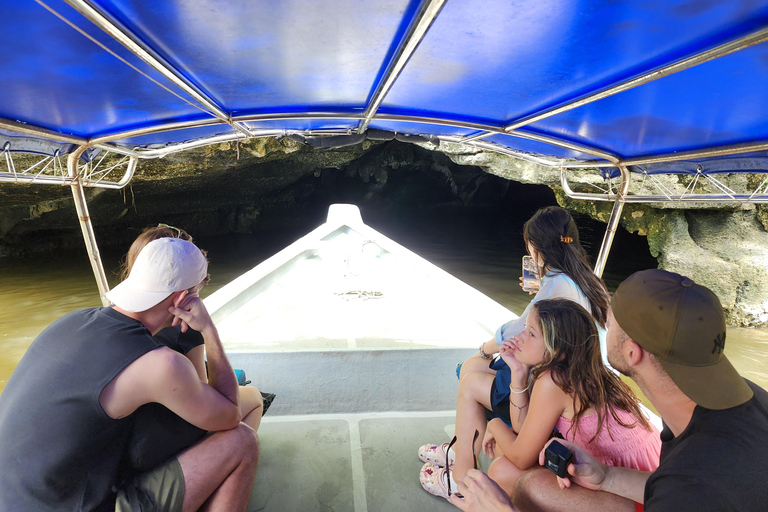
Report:
[{"label": "murky greenish-brown water surface around the boat", "polygon": [[[518,286],[524,218],[403,213],[380,218],[364,214],[364,220],[515,313],[521,313],[530,300]],[[577,222],[587,250],[596,253],[604,224],[581,217]],[[316,226],[199,239],[199,245],[208,250],[212,276],[202,296]],[[116,269],[126,249],[102,249],[111,285],[116,283]],[[604,278],[613,289],[632,272],[655,265],[644,239],[622,231],[617,234]],[[424,290],[425,300],[429,293]],[[0,392],[29,344],[47,325],[75,309],[100,305],[84,250],[47,257],[0,259]],[[729,327],[725,352],[742,375],[768,387],[768,330]]]}]

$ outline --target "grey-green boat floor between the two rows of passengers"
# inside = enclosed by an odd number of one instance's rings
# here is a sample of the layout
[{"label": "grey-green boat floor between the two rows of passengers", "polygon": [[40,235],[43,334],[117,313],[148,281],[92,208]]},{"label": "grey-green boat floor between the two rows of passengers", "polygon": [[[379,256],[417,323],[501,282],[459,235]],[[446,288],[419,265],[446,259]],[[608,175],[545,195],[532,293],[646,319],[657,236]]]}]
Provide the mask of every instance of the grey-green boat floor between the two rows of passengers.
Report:
[{"label": "grey-green boat floor between the two rows of passengers", "polygon": [[453,422],[453,411],[267,416],[248,512],[457,510],[421,488],[417,456]]}]

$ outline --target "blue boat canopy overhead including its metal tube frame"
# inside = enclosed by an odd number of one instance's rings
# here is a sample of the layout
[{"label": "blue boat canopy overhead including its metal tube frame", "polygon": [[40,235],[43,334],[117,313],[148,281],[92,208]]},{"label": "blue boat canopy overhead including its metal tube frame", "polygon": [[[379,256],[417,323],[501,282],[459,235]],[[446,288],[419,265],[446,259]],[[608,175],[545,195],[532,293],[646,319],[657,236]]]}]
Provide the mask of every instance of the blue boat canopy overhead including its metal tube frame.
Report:
[{"label": "blue boat canopy overhead including its metal tube frame", "polygon": [[[83,186],[216,142],[465,144],[614,201],[607,253],[625,202],[701,200],[699,179],[768,202],[768,175],[746,194],[720,179],[768,171],[766,40],[768,0],[14,0],[0,181],[72,185],[83,219]],[[123,160],[97,171],[106,152]],[[571,189],[588,170],[600,193]],[[664,174],[690,175],[684,193],[629,193]]]}]

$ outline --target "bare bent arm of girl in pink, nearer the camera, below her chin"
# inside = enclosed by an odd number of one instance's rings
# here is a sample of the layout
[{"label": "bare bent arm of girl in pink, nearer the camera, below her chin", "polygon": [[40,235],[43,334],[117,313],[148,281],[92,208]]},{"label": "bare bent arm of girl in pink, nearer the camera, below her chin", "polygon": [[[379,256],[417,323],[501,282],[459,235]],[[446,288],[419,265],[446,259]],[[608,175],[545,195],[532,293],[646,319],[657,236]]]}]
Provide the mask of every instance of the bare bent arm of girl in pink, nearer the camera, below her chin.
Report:
[{"label": "bare bent arm of girl in pink, nearer the camera, below her chin", "polygon": [[496,438],[496,450],[519,469],[535,465],[569,401],[572,401],[571,396],[554,383],[549,372],[543,372],[533,387],[525,421],[517,436],[501,421],[488,425]]}]

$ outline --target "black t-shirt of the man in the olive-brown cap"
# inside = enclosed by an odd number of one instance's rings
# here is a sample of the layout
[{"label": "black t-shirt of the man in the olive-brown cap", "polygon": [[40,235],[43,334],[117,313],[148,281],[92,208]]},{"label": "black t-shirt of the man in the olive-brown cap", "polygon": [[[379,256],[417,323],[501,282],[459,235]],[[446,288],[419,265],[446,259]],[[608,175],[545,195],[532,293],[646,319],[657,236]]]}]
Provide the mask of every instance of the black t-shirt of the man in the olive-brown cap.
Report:
[{"label": "black t-shirt of the man in the olive-brown cap", "polygon": [[697,406],[688,427],[661,433],[661,463],[645,486],[647,512],[768,510],[768,392],[713,411]]}]

